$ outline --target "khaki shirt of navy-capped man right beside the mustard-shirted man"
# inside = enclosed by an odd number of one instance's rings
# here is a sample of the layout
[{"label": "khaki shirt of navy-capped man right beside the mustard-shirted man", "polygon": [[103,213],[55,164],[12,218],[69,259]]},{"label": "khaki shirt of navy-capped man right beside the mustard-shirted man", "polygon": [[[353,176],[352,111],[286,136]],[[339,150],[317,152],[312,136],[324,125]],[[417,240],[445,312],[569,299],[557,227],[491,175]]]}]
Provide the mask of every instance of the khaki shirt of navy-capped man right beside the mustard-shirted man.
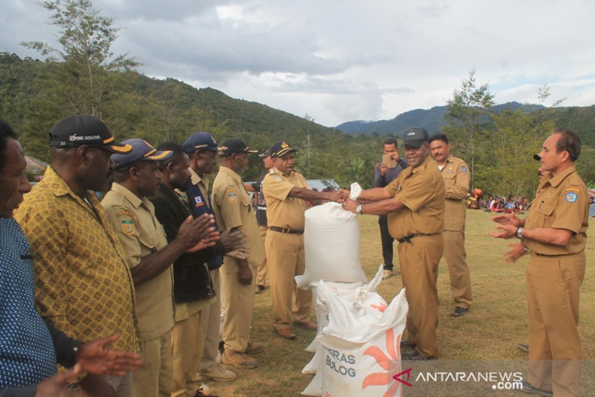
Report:
[{"label": "khaki shirt of navy-capped man right beside the mustard-shirted man", "polygon": [[[114,183],[101,203],[126,249],[130,268],[137,266],[142,257],[167,245],[163,227],[155,218],[155,208],[148,198],[140,199],[126,187]],[[134,289],[142,339],[146,341],[164,335],[174,326],[171,266]]]}]

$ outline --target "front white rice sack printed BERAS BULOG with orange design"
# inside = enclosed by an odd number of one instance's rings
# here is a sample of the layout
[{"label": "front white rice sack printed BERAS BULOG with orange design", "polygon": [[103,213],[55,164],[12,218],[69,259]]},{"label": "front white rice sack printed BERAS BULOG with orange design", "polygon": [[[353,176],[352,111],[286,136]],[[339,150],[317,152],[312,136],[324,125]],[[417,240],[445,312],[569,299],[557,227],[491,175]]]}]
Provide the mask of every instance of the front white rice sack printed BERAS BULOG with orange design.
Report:
[{"label": "front white rice sack printed BERAS BULOG with orange design", "polygon": [[321,395],[402,395],[403,385],[393,376],[402,371],[400,340],[408,310],[405,290],[386,307],[374,295],[361,296],[354,304],[320,283],[318,301],[329,312],[328,326],[316,338],[324,346],[317,372],[322,376]]}]

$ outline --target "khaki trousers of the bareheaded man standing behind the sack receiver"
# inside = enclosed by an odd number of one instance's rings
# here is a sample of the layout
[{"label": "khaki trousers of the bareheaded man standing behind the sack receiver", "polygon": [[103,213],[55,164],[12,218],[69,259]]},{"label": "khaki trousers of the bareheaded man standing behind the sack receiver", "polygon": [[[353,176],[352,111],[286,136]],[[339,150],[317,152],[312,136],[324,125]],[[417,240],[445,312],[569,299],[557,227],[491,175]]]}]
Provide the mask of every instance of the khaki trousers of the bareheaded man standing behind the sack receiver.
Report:
[{"label": "khaki trousers of the bareheaded man standing behind the sack receiver", "polygon": [[444,258],[450,276],[450,290],[458,307],[468,309],[471,306],[471,276],[467,266],[465,252],[465,232],[444,230]]}]

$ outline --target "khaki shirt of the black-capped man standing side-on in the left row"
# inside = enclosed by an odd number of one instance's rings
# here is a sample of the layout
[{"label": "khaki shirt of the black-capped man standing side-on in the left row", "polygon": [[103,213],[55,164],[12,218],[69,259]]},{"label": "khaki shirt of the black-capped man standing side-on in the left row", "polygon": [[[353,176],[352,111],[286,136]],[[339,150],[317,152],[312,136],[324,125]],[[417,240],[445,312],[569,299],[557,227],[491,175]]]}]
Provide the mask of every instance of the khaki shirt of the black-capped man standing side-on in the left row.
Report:
[{"label": "khaki shirt of the black-capped man standing side-on in the left row", "polygon": [[[264,244],[256,214],[250,204],[250,195],[242,183],[242,178],[230,168],[221,165],[213,182],[211,205],[215,211],[217,225],[221,230],[240,227],[246,234],[246,246],[250,249],[248,263],[258,266],[264,261]],[[238,273],[235,258],[226,256],[222,270],[225,273]]]}]

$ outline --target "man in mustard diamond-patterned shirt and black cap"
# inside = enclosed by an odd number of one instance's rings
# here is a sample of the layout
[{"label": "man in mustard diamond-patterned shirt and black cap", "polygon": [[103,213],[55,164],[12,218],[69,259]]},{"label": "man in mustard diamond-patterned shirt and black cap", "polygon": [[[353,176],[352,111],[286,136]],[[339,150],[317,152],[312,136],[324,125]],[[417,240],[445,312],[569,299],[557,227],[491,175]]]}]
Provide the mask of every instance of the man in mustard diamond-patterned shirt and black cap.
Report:
[{"label": "man in mustard diamond-patterned shirt and black cap", "polygon": [[[61,343],[72,345],[71,348],[80,343],[60,331],[88,341],[80,346],[79,354],[86,345],[95,352],[110,352],[104,348],[109,343],[120,350],[136,349],[134,341],[138,333],[134,325],[130,276],[121,257],[121,246],[115,242],[105,212],[90,191],[107,189],[114,167],[110,154],[131,148],[115,143],[101,120],[84,114],[58,121],[50,136],[52,164],[46,169],[42,182],[15,212],[15,218],[32,243],[32,255],[27,256],[32,257],[35,268],[37,311],[48,324],[55,344],[64,338],[67,342]],[[24,159],[16,164],[24,164]],[[21,191],[28,189],[27,185],[21,184]],[[18,199],[22,200],[22,193],[18,194]],[[77,276],[80,268],[84,268],[83,279]],[[70,273],[73,270],[74,273]],[[98,286],[109,293],[102,293]],[[65,299],[77,304],[65,310]],[[93,302],[92,306],[89,302]],[[120,335],[109,336],[114,331]],[[92,342],[93,339],[99,341]],[[133,364],[128,370],[122,368],[124,371],[111,371],[109,367],[98,370],[83,365],[83,370],[91,374],[85,376],[80,385],[96,395],[112,395],[115,389],[118,396],[130,396],[128,372],[136,370],[141,362],[137,354],[126,354],[126,357],[132,358]],[[5,371],[2,373],[6,376]],[[58,376],[61,380],[54,382],[50,395],[61,395],[55,387],[64,385],[72,374],[70,371],[68,376]]]}]

